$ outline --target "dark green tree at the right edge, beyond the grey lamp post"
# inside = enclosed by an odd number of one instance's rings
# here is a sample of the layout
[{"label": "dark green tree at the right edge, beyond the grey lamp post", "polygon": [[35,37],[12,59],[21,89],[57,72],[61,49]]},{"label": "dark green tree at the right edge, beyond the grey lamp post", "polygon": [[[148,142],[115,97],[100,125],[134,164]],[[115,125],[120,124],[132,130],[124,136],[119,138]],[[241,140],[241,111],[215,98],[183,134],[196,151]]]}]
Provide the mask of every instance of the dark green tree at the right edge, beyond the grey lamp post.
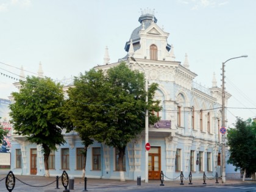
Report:
[{"label": "dark green tree at the right edge, beyond the grey lamp post", "polygon": [[230,148],[230,157],[227,163],[235,166],[235,171],[241,169],[244,174],[256,172],[255,127],[252,119],[243,121],[243,119],[238,118],[235,128],[227,131],[227,144]]}]

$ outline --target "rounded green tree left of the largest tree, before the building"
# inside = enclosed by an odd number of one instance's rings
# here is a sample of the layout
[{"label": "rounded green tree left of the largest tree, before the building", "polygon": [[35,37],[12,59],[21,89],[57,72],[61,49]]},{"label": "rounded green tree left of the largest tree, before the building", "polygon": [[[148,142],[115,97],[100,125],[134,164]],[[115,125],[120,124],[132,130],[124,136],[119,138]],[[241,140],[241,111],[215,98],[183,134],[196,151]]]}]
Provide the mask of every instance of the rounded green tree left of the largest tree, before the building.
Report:
[{"label": "rounded green tree left of the largest tree, before the building", "polygon": [[12,93],[15,102],[10,104],[11,123],[16,134],[42,146],[45,176],[49,177],[49,154],[57,150],[56,145],[65,143],[62,86],[39,77],[27,77],[20,84],[20,93]]}]

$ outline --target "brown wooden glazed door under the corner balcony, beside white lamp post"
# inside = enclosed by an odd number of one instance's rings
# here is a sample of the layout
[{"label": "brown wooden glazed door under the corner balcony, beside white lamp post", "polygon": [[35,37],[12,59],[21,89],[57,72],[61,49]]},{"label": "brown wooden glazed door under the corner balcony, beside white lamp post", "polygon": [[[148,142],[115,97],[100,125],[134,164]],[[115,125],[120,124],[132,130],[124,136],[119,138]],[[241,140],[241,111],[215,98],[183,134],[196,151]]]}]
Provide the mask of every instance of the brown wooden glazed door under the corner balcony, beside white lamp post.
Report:
[{"label": "brown wooden glazed door under the corner balcony, beside white lamp post", "polygon": [[161,154],[160,147],[151,147],[149,150],[149,179],[160,179]]}]

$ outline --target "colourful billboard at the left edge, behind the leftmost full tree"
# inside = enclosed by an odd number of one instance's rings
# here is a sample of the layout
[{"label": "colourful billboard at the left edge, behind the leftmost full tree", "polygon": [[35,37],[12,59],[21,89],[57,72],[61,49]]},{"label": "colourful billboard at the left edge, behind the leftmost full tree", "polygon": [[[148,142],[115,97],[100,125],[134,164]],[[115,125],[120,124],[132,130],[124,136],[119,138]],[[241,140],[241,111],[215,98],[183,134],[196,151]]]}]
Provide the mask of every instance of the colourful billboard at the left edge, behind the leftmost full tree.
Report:
[{"label": "colourful billboard at the left edge, behind the leftmost full tree", "polygon": [[8,130],[9,133],[7,135],[4,135],[4,140],[2,141],[2,144],[0,144],[0,152],[10,152],[10,149],[12,147],[12,126],[9,122],[9,105],[11,104],[11,101],[8,99],[0,99],[0,129]]}]

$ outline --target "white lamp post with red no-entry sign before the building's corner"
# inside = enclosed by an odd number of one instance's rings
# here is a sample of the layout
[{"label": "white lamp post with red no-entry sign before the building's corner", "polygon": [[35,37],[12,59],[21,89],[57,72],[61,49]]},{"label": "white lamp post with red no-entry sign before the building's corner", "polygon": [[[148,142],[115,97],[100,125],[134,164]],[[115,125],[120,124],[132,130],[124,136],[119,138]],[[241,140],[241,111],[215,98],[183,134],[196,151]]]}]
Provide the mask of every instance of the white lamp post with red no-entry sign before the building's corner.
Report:
[{"label": "white lamp post with red no-entry sign before the building's corner", "polygon": [[[148,76],[146,74],[146,71],[144,70],[144,68],[140,65],[140,63],[138,63],[134,57],[130,57],[130,59],[133,60],[133,62],[137,63],[141,69],[143,69],[144,71],[144,75],[145,75],[145,90],[146,90],[146,113],[145,113],[145,144],[149,142],[149,110],[148,110]],[[146,154],[145,154],[145,183],[149,182],[149,151],[146,150]]]}]

